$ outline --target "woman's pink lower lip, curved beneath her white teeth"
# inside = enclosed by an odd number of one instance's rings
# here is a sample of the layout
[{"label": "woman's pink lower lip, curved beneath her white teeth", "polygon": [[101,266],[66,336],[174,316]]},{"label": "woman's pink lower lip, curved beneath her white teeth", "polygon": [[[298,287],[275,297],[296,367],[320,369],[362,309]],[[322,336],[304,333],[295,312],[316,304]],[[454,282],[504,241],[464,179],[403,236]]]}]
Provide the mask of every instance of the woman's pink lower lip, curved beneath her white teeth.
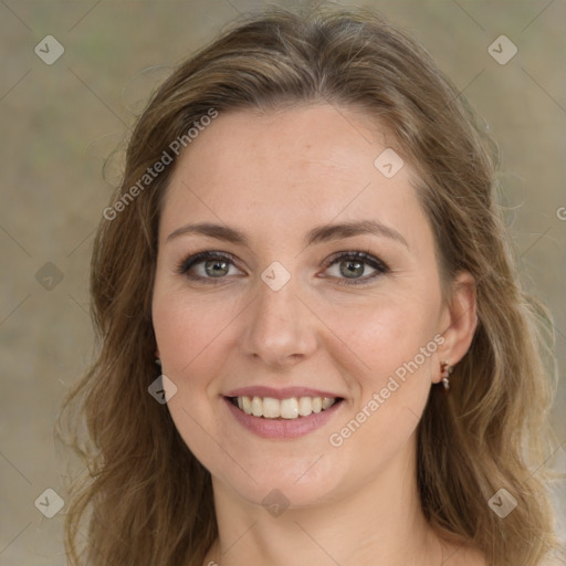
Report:
[{"label": "woman's pink lower lip, curved beneath her white teeth", "polygon": [[251,432],[262,438],[292,439],[304,437],[313,430],[324,427],[329,419],[340,409],[344,401],[334,403],[331,408],[321,412],[313,412],[308,417],[297,419],[265,419],[247,415],[240,410],[230,399],[224,397],[228,408],[235,420]]}]

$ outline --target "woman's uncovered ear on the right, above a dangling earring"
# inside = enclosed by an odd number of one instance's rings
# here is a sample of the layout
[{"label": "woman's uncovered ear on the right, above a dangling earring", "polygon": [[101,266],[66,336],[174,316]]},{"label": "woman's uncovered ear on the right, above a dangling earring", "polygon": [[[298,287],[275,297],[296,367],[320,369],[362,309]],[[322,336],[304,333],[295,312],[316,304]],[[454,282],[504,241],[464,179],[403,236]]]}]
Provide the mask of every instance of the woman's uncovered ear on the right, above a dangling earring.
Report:
[{"label": "woman's uncovered ear on the right, above a dangling earring", "polygon": [[[457,274],[440,316],[444,342],[438,348],[440,361],[455,366],[467,354],[478,327],[475,280],[468,271]],[[441,380],[439,371],[433,381]]]}]

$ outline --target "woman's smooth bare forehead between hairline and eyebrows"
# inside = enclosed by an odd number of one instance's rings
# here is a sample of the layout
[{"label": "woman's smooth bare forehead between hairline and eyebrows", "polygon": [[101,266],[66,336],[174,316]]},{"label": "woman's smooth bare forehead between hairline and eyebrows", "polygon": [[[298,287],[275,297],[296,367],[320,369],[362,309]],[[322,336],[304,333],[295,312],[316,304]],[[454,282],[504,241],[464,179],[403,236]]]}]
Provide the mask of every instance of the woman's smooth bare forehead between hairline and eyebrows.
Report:
[{"label": "woman's smooth bare forehead between hairline and eyebrows", "polygon": [[418,240],[424,219],[409,167],[390,178],[376,167],[387,142],[368,116],[331,105],[219,114],[181,154],[161,224],[220,221],[291,237],[303,224],[379,218]]}]

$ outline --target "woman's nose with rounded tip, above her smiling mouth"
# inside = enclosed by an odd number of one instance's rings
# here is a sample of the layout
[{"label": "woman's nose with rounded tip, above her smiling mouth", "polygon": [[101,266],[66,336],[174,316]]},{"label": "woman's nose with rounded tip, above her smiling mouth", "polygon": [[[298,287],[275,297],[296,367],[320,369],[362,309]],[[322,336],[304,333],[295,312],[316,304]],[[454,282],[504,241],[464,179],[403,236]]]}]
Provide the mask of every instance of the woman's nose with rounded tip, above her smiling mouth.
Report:
[{"label": "woman's nose with rounded tip, above her smiling mouth", "polygon": [[248,356],[270,367],[287,367],[316,350],[316,317],[296,291],[293,279],[279,291],[259,281],[241,338]]}]

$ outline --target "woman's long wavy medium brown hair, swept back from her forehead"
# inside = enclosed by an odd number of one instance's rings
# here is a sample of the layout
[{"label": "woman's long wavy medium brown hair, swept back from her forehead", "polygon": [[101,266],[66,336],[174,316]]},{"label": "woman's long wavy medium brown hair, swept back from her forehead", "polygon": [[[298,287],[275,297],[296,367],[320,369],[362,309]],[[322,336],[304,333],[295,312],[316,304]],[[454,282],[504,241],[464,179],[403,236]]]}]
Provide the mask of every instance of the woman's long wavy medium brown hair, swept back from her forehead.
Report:
[{"label": "woman's long wavy medium brown hair, swept back from her forehead", "polygon": [[[423,512],[489,564],[539,564],[557,547],[543,442],[555,390],[552,326],[517,280],[495,202],[495,146],[413,40],[364,10],[274,10],[238,22],[151,97],[113,202],[211,108],[221,116],[321,102],[360,109],[386,128],[416,174],[444,286],[460,270],[476,281],[473,343],[450,392],[432,387],[419,423]],[[159,375],[150,308],[159,211],[174,169],[97,232],[91,285],[99,348],[66,401],[84,418],[74,442],[88,464],[66,521],[73,565],[201,566],[218,534],[210,474],[148,395]],[[488,505],[502,488],[517,501],[505,518]]]}]

